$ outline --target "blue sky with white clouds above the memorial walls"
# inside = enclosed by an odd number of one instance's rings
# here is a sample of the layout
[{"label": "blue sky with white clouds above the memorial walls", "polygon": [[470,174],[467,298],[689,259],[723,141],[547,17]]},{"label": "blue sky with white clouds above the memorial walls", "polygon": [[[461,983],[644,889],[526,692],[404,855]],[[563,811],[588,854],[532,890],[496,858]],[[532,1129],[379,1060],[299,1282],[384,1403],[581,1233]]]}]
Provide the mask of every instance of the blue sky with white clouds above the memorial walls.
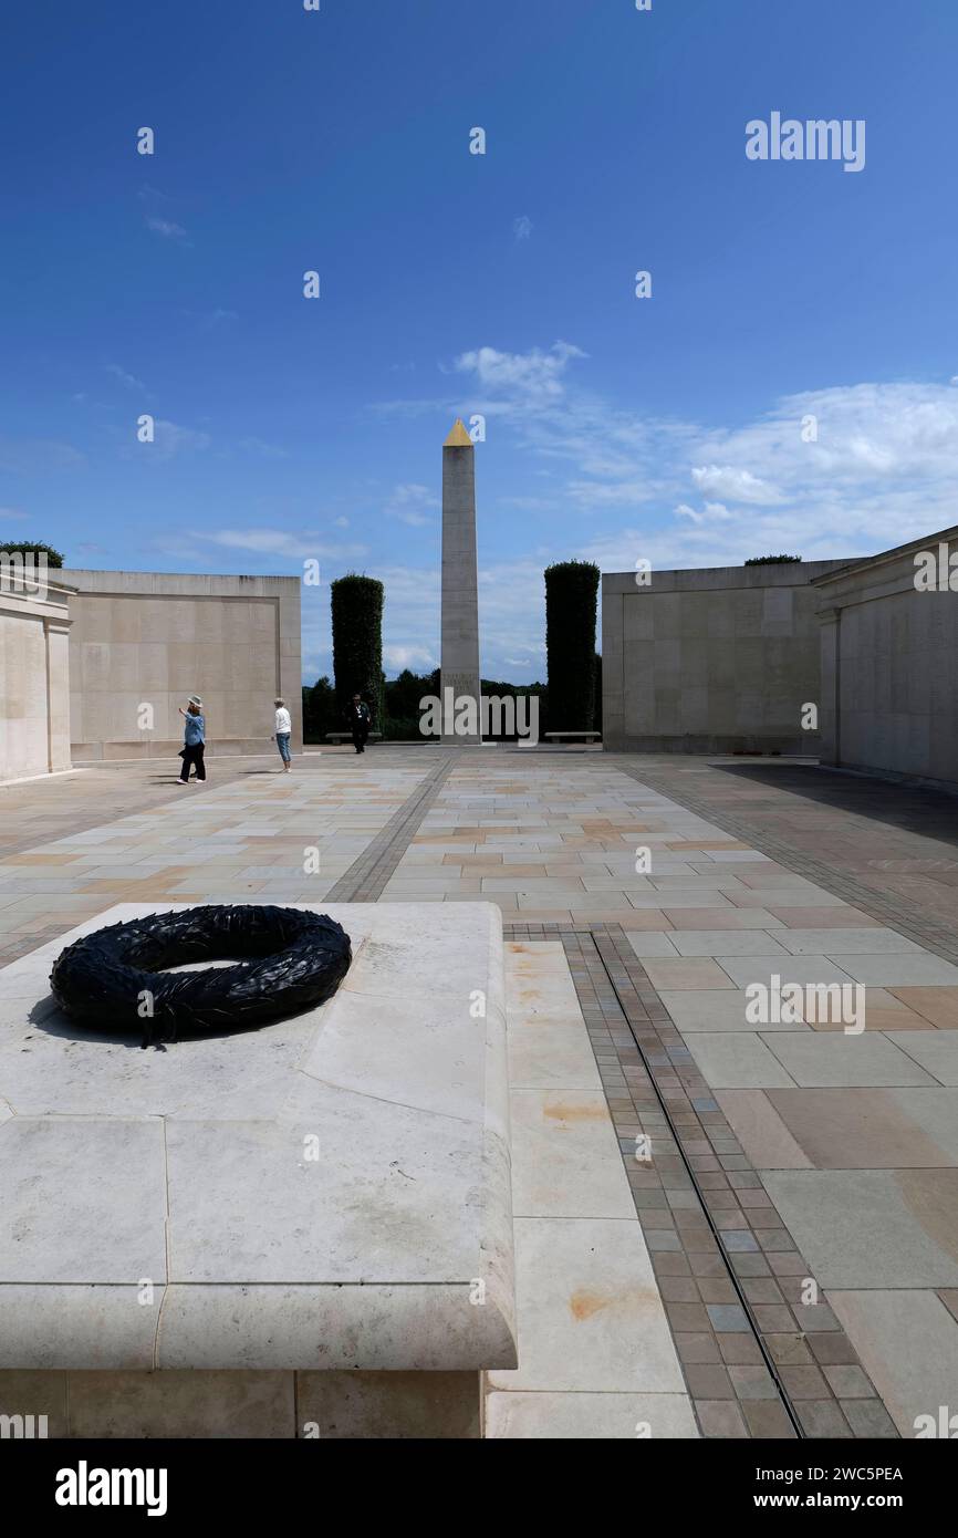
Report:
[{"label": "blue sky with white clouds above the memorial walls", "polygon": [[[0,57],[0,540],[318,558],[309,681],[366,571],[388,672],[427,669],[483,414],[483,672],[521,683],[549,561],[958,521],[953,0],[112,0],[8,8]],[[864,169],[747,160],[773,111],[864,120]]]}]

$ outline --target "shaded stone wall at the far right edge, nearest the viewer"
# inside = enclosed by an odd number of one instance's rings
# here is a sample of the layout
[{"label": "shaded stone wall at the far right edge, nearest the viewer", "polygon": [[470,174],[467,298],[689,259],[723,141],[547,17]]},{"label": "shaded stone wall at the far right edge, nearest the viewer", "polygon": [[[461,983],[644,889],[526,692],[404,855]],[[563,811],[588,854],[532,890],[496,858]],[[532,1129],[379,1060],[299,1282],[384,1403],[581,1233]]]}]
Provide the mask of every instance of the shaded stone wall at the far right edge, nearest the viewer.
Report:
[{"label": "shaded stone wall at the far right edge, nearest the viewer", "polygon": [[[944,588],[915,586],[927,552]],[[821,631],[821,761],[958,783],[958,528],[815,581]],[[958,588],[958,572],[955,574]]]}]

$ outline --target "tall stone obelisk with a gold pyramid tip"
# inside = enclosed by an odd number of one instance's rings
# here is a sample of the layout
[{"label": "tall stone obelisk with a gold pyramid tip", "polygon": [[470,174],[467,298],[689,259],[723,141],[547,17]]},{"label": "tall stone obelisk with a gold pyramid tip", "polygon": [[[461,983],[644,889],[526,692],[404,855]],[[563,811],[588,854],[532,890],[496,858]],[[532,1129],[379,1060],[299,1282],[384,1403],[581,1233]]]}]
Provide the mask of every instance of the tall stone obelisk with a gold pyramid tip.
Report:
[{"label": "tall stone obelisk with a gold pyramid tip", "polygon": [[[449,694],[452,691],[452,695]],[[475,558],[475,449],[460,418],[443,444],[443,631],[440,652],[443,741],[481,741],[478,577]],[[466,701],[475,701],[469,709]],[[454,711],[451,709],[454,706]],[[454,714],[455,712],[455,714]],[[458,721],[455,732],[454,721]],[[472,731],[461,731],[472,726]]]}]

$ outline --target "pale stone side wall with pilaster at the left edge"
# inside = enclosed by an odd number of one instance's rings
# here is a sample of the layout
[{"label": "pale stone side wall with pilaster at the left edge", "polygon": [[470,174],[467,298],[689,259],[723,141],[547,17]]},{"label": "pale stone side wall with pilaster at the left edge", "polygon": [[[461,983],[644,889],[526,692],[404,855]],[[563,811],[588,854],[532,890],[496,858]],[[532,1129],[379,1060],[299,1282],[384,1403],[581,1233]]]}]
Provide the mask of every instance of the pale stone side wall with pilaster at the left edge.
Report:
[{"label": "pale stone side wall with pilaster at the left edge", "polygon": [[0,586],[0,781],[71,766],[68,598]]}]

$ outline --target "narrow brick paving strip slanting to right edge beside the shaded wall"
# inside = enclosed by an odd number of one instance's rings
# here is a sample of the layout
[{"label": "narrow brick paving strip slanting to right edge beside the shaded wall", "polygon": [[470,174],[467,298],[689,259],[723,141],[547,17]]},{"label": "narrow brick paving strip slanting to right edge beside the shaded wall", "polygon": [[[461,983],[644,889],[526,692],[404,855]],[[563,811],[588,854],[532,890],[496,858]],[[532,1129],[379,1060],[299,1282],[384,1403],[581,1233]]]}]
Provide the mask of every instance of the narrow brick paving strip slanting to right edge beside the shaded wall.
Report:
[{"label": "narrow brick paving strip slanting to right edge beside the shaded wall", "polygon": [[[732,838],[740,838],[752,849],[757,849],[760,854],[775,860],[786,871],[792,871],[795,875],[803,875],[809,881],[815,881],[815,884],[824,892],[830,892],[833,897],[843,898],[852,907],[858,907],[863,914],[878,920],[880,924],[887,924],[900,935],[906,935],[926,950],[941,957],[943,961],[952,961],[958,966],[958,927],[953,923],[943,923],[927,909],[923,910],[918,906],[906,907],[903,903],[906,903],[907,898],[904,898],[900,892],[889,892],[886,895],[877,887],[847,874],[841,869],[840,855],[832,863],[817,860],[813,855],[797,849],[795,844],[787,840],[770,834],[755,820],[737,817],[733,812],[726,811],[724,804],[714,800],[704,800],[703,797],[687,791],[683,786],[680,775],[666,777],[657,775],[646,767],[632,769],[621,760],[614,760],[614,763],[621,774],[629,775],[629,778],[635,780],[638,784],[647,786],[650,791],[657,791],[660,795],[675,801],[677,806],[684,806],[687,812],[695,812],[698,817],[703,817],[707,823],[720,827]],[[720,771],[717,769],[715,772],[718,774]],[[827,771],[818,772],[826,774]],[[901,792],[900,786],[893,786],[893,789]],[[887,792],[889,786],[884,781],[878,781],[877,791],[878,794]],[[778,795],[784,794],[787,792],[778,791]],[[846,818],[847,817],[849,814],[846,814]],[[869,823],[869,826],[872,824]],[[941,861],[938,863],[941,864]],[[958,861],[955,861],[953,869],[958,872]]]}]

